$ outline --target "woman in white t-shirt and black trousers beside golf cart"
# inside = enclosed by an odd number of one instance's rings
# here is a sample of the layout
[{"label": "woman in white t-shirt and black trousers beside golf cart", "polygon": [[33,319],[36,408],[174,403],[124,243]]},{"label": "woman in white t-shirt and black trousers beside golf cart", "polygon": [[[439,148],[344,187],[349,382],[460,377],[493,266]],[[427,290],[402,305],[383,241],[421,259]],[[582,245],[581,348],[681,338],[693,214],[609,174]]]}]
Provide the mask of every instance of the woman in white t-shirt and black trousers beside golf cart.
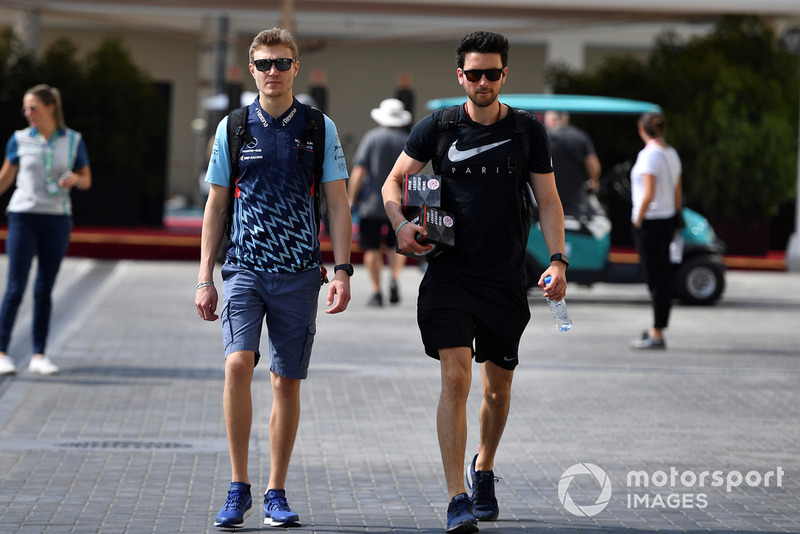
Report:
[{"label": "woman in white t-shirt and black trousers beside golf cart", "polygon": [[653,298],[653,326],[634,340],[636,349],[665,349],[664,329],[672,308],[672,263],[669,246],[681,209],[681,159],[666,141],[664,115],[648,112],[639,118],[645,147],[631,169],[633,237]]}]

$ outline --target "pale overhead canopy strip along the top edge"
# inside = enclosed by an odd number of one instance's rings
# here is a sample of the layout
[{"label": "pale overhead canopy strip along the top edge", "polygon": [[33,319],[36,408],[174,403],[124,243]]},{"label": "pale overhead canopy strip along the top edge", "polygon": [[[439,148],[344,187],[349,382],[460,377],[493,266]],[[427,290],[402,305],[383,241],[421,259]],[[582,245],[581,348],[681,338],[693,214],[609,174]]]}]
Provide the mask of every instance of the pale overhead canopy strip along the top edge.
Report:
[{"label": "pale overhead canopy strip along the top edge", "polygon": [[[5,8],[5,9],[4,9]],[[197,38],[228,17],[234,33],[288,25],[298,40],[452,40],[482,28],[517,41],[563,28],[646,22],[706,22],[720,14],[800,18],[798,0],[0,0],[0,16],[38,13],[49,24]]]}]

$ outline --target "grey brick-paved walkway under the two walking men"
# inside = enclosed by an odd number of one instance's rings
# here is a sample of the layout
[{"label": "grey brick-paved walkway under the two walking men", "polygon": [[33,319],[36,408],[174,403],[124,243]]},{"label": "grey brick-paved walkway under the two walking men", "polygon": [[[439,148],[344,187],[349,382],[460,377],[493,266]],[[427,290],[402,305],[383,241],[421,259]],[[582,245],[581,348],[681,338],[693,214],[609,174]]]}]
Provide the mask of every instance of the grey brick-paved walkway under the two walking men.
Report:
[{"label": "grey brick-paved walkway under the two walking men", "polygon": [[[20,372],[0,378],[0,532],[215,530],[230,477],[221,335],[194,311],[196,271],[68,259],[54,377],[27,373],[25,301],[11,350]],[[298,531],[442,532],[420,274],[407,268],[402,303],[382,310],[365,306],[366,278],[358,269],[346,313],[318,321],[288,482]],[[649,322],[643,285],[571,287],[567,300],[575,328],[560,334],[530,299],[497,457],[500,519],[481,532],[800,532],[800,275],[729,273],[717,306],[674,309],[657,354],[627,348]],[[256,494],[271,395],[258,371]],[[470,455],[479,402],[475,380]],[[271,530],[256,506],[245,531]]]}]

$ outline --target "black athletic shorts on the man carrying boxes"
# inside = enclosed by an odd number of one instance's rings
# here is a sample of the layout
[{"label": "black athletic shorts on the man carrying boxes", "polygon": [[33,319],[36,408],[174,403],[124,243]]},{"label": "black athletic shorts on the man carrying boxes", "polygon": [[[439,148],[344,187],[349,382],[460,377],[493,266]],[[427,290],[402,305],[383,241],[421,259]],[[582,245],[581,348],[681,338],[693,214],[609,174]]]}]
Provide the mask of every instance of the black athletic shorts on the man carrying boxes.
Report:
[{"label": "black athletic shorts on the man carrying boxes", "polygon": [[470,347],[475,361],[513,370],[531,318],[525,287],[488,287],[426,273],[419,286],[417,324],[425,354]]}]

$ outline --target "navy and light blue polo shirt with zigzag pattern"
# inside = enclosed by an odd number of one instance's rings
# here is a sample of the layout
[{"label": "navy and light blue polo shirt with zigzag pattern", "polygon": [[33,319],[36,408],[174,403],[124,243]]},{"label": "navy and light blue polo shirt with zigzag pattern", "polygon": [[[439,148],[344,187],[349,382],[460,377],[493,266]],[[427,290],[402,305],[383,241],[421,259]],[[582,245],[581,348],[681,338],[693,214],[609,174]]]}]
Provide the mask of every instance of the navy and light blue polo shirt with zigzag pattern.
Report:
[{"label": "navy and light blue polo shirt with zigzag pattern", "polygon": [[[217,126],[206,181],[235,187],[231,245],[226,261],[267,272],[302,272],[320,263],[314,206],[314,157],[298,163],[306,125],[305,106],[294,104],[280,117],[265,112],[258,98],[247,112],[255,141],[242,147],[239,176],[230,183],[228,117]],[[336,126],[325,116],[322,182],[346,180],[347,165]]]}]

